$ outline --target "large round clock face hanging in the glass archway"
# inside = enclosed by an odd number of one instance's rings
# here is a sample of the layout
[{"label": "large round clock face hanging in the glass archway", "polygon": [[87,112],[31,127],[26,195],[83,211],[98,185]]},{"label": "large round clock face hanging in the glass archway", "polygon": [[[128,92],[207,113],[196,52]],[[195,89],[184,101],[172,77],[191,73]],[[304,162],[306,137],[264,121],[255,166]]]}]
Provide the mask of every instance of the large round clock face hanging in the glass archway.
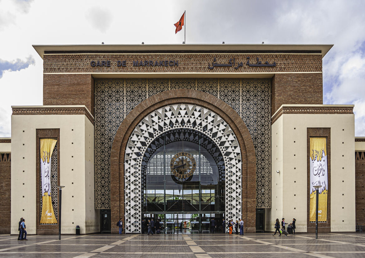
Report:
[{"label": "large round clock face hanging in the glass archway", "polygon": [[183,182],[191,180],[196,169],[196,161],[190,153],[179,152],[172,157],[170,167],[174,181]]}]

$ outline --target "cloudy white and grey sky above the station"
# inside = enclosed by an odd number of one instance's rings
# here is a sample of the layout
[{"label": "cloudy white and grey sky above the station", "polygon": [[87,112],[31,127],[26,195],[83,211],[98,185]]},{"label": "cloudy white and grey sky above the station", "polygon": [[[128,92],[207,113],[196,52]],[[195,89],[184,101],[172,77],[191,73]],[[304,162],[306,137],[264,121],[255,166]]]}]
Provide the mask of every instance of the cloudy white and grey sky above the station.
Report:
[{"label": "cloudy white and grey sky above the station", "polygon": [[43,62],[32,45],[334,44],[323,58],[323,104],[355,105],[365,136],[365,0],[0,0],[0,137],[11,106],[42,105]]}]

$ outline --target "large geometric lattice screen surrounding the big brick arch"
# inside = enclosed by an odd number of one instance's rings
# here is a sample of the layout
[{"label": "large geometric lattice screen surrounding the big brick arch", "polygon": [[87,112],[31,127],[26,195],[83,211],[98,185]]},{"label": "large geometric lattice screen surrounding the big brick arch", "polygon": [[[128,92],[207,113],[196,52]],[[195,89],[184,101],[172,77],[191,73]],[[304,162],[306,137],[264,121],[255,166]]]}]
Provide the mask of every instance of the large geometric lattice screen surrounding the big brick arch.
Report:
[{"label": "large geometric lattice screen surrounding the big brick arch", "polygon": [[256,206],[270,208],[269,79],[95,79],[95,207],[110,209],[110,151],[123,119],[148,97],[180,88],[214,95],[241,115],[256,152]]}]

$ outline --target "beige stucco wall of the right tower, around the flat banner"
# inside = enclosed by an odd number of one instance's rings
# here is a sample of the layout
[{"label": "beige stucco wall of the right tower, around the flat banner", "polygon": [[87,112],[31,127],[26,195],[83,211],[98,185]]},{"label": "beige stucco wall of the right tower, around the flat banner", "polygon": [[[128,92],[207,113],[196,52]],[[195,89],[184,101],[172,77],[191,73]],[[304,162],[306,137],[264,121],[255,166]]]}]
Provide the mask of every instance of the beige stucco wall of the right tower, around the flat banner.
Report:
[{"label": "beige stucco wall of the right tower, around the flat banner", "polygon": [[[354,231],[353,114],[283,114],[272,125],[273,201],[266,230],[273,228],[274,219],[285,217],[287,223],[296,218],[297,232],[307,231],[307,128],[311,127],[331,128],[331,231]],[[282,200],[276,201],[276,196]]]}]

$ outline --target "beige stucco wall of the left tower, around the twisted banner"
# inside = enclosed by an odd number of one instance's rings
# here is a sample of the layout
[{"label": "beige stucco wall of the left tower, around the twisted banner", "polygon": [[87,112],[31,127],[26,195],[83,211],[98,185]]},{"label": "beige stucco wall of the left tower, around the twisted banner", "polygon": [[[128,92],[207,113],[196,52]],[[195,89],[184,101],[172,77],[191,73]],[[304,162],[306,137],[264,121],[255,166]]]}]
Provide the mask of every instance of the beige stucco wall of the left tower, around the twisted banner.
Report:
[{"label": "beige stucco wall of the left tower, around the twisted banner", "polygon": [[81,234],[99,231],[94,230],[99,228],[99,217],[91,183],[92,123],[85,115],[12,115],[11,234],[18,234],[19,217],[26,219],[28,234],[36,233],[36,129],[46,128],[60,129],[62,233],[74,234],[76,225]]}]

